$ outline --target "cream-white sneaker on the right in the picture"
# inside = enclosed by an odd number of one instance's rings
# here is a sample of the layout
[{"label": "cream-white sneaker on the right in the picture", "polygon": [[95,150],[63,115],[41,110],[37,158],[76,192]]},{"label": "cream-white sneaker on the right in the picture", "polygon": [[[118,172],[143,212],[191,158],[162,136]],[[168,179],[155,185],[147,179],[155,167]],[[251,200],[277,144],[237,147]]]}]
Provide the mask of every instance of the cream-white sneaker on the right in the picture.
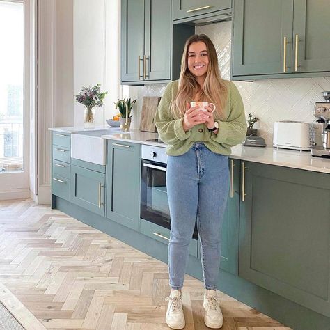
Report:
[{"label": "cream-white sneaker on the right in the picture", "polygon": [[223,324],[223,315],[217,300],[215,290],[206,290],[203,307],[205,309],[204,323],[212,329],[219,329]]}]

